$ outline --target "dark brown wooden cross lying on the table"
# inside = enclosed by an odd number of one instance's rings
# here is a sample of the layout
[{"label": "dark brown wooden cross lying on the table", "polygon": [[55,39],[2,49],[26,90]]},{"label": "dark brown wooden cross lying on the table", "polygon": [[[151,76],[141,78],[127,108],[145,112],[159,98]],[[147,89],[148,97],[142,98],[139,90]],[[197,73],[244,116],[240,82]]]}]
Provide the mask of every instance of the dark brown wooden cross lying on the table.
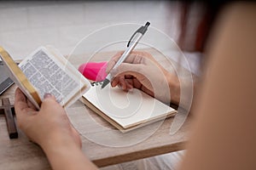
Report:
[{"label": "dark brown wooden cross lying on the table", "polygon": [[6,125],[9,133],[9,139],[17,139],[18,132],[15,125],[15,118],[14,118],[14,105],[10,105],[9,98],[2,99],[2,106],[0,106],[0,113],[5,116]]}]

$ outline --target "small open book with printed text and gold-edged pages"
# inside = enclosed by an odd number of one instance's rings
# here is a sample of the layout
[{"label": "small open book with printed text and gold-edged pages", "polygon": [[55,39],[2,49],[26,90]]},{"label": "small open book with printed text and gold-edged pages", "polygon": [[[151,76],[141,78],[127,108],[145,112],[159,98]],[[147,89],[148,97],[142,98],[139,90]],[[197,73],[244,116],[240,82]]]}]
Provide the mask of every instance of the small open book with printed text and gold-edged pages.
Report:
[{"label": "small open book with printed text and gold-edged pages", "polygon": [[46,93],[67,107],[90,88],[90,82],[54,48],[38,48],[19,66],[1,47],[0,57],[9,68],[9,77],[38,109]]}]

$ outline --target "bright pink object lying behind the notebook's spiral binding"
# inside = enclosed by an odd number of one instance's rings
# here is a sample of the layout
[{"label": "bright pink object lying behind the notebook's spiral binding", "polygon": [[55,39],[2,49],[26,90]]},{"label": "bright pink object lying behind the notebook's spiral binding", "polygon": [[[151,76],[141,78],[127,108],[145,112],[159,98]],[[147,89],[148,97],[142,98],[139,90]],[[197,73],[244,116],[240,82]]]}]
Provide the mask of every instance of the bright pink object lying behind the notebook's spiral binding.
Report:
[{"label": "bright pink object lying behind the notebook's spiral binding", "polygon": [[85,78],[101,82],[105,80],[107,77],[106,69],[107,69],[108,62],[88,62],[84,63],[83,65],[79,66],[79,71],[84,75]]}]

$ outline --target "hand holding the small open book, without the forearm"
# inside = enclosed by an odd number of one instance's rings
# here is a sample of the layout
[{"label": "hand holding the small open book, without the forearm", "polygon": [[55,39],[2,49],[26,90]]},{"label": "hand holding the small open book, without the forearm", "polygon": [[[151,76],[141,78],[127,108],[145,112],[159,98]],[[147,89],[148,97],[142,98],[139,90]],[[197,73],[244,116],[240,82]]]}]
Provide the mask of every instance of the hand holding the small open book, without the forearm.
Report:
[{"label": "hand holding the small open book, without the forearm", "polygon": [[72,127],[66,111],[55,101],[54,96],[44,95],[41,109],[37,111],[17,88],[15,113],[18,127],[43,149],[52,144],[61,144],[64,140],[81,148],[79,133]]}]

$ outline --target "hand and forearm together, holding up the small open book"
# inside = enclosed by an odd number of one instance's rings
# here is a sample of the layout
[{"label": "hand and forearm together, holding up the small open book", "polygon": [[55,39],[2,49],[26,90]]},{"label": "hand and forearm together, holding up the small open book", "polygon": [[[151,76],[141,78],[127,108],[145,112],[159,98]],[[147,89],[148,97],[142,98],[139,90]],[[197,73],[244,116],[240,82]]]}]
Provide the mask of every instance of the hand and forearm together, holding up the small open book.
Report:
[{"label": "hand and forearm together, holding up the small open book", "polygon": [[84,156],[79,133],[54,96],[45,95],[40,111],[36,111],[17,88],[15,113],[20,129],[42,147],[53,169],[96,169]]}]

